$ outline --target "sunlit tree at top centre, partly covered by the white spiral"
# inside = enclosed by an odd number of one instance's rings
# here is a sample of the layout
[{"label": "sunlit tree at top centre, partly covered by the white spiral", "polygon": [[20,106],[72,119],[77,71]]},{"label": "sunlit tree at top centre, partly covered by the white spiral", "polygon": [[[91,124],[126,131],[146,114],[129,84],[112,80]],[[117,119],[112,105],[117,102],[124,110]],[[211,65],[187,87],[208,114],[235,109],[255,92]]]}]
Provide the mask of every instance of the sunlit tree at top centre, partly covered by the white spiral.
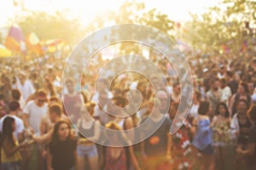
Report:
[{"label": "sunlit tree at top centre, partly covered by the white spiral", "polygon": [[[103,28],[106,25],[108,26],[108,23],[132,23],[143,26],[152,26],[166,33],[167,36],[173,37],[172,30],[174,27],[174,22],[168,18],[167,14],[162,14],[155,8],[146,10],[144,3],[137,3],[136,1],[125,1],[125,3],[123,3],[117,11],[107,11],[105,14],[96,16],[96,19],[88,25],[85,32],[96,31],[97,29]],[[138,31],[139,30],[136,30],[136,32]],[[122,37],[122,35],[127,33],[132,34],[132,32],[135,31],[118,30],[113,32],[113,37]],[[140,34],[143,33],[143,31],[140,32]],[[140,54],[140,48],[141,47],[139,45],[134,43],[131,44],[129,42],[123,42],[119,45],[119,49],[123,54]]]}]

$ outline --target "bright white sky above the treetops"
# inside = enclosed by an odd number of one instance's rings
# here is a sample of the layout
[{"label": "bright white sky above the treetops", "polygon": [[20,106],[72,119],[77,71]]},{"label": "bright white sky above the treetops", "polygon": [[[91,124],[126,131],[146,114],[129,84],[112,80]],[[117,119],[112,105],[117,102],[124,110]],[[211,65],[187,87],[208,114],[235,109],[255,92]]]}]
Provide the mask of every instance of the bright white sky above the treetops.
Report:
[{"label": "bright white sky above the treetops", "polygon": [[[144,2],[146,8],[156,8],[168,14],[171,20],[189,20],[189,12],[201,14],[207,7],[218,4],[220,0],[137,0]],[[84,25],[94,18],[96,14],[107,9],[117,9],[125,0],[0,0],[0,27],[9,26],[20,14],[20,8],[15,8],[14,3],[22,3],[25,8],[43,10],[54,13],[56,10],[67,8],[74,16],[79,16]]]}]

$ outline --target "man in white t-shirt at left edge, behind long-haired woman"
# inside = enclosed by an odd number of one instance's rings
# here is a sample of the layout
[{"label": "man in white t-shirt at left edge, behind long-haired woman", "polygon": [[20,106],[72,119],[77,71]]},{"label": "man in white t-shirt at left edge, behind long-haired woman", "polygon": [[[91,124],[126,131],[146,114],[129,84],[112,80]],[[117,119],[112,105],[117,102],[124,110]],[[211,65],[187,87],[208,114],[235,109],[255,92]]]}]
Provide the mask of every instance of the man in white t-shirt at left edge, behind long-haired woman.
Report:
[{"label": "man in white t-shirt at left edge, behind long-haired woman", "polygon": [[16,128],[15,128],[15,138],[19,141],[22,140],[22,133],[24,130],[24,123],[20,117],[18,117],[18,113],[20,112],[20,104],[17,101],[12,101],[9,103],[9,114],[6,116],[3,116],[0,119],[0,132],[3,130],[3,121],[7,116],[11,116],[15,119]]}]

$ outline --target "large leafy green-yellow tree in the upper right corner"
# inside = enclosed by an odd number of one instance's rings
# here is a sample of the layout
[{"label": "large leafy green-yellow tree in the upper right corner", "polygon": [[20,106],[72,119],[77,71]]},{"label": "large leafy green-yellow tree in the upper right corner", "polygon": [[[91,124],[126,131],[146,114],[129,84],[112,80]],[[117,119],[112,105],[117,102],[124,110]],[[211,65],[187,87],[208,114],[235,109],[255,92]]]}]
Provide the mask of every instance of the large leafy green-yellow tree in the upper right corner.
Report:
[{"label": "large leafy green-yellow tree in the upper right corner", "polygon": [[255,8],[256,2],[250,0],[224,0],[220,6],[208,8],[205,14],[191,14],[192,21],[186,23],[188,33],[183,39],[205,53],[221,49],[224,52],[222,47],[225,47],[230,53],[238,54],[248,41],[244,37],[244,23],[256,21]]}]

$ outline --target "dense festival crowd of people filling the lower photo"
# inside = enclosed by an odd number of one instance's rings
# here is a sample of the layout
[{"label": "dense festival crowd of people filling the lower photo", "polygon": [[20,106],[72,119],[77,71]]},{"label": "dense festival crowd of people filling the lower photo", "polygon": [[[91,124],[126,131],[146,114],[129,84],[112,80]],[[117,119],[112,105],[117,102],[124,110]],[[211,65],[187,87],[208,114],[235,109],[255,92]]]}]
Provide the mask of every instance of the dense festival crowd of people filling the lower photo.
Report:
[{"label": "dense festival crowd of people filling the lower photo", "polygon": [[[152,75],[159,84],[152,87],[142,75],[123,73],[110,88],[111,80],[99,80],[100,91],[94,77],[61,80],[65,59],[3,60],[1,169],[256,169],[256,58],[249,53],[188,56],[193,101],[173,135],[182,87],[167,59],[154,60],[167,84]],[[127,97],[134,88],[143,101],[129,115],[123,108],[136,102]],[[161,123],[145,138],[150,127],[132,131],[144,122]],[[130,130],[110,135],[101,126]],[[135,138],[143,140],[131,144]],[[113,147],[124,141],[127,145]]]}]

